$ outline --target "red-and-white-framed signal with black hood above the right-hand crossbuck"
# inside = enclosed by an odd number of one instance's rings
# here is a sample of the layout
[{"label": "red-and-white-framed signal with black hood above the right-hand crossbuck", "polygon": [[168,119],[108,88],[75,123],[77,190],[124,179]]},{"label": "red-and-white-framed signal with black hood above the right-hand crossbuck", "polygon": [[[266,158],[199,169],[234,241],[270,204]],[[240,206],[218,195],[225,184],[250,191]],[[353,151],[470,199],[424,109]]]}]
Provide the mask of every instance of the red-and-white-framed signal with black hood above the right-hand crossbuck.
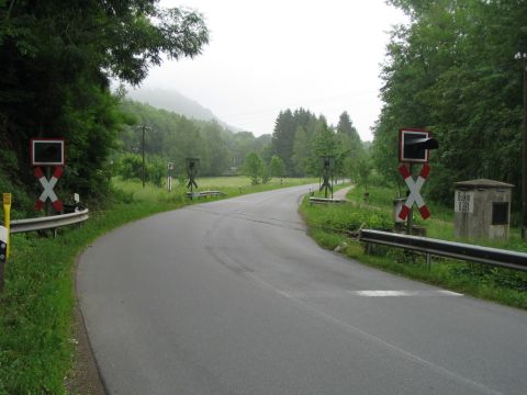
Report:
[{"label": "red-and-white-framed signal with black hood above the right-hand crossbuck", "polygon": [[429,131],[407,128],[399,131],[400,162],[427,163],[428,151],[437,149],[438,146]]}]

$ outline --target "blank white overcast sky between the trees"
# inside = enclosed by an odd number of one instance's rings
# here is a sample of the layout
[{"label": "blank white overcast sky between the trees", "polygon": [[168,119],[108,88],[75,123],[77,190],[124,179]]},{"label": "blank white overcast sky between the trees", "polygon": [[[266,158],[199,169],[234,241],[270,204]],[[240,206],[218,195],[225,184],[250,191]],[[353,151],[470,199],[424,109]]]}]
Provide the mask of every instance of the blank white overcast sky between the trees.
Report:
[{"label": "blank white overcast sky between the trees", "polygon": [[383,0],[160,3],[202,12],[211,40],[194,59],[153,68],[144,87],[175,89],[257,136],[272,133],[281,110],[302,106],[329,124],[347,111],[372,138],[389,31],[406,21]]}]

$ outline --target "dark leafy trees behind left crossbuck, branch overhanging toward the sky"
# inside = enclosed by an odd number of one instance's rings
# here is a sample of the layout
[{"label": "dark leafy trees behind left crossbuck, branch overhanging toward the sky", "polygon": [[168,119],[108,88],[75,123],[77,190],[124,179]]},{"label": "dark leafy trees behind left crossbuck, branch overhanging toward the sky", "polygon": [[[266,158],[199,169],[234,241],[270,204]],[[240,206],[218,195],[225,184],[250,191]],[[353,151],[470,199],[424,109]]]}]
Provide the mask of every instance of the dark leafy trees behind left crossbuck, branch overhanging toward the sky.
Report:
[{"label": "dark leafy trees behind left crossbuck, branch overhanging toward the sky", "polygon": [[85,196],[105,190],[123,121],[110,78],[137,84],[209,40],[198,12],[149,0],[1,1],[0,15],[0,143],[19,158],[3,171],[31,184],[30,138],[65,137],[61,184]]}]

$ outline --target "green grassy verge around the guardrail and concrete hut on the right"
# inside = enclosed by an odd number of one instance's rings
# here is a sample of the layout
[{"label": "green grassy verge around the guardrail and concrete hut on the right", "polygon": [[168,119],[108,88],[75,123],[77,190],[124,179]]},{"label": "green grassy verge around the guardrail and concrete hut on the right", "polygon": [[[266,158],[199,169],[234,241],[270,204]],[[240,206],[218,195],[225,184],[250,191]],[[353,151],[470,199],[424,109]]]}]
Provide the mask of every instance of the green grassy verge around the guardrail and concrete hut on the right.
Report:
[{"label": "green grassy verge around the guardrail and concrete hut on the right", "polygon": [[[393,226],[392,196],[396,191],[370,188],[369,192],[369,204],[363,203],[363,190],[358,188],[347,195],[352,203],[345,205],[310,205],[304,199],[300,211],[310,227],[311,236],[327,249],[346,245],[344,252],[362,263],[480,298],[527,309],[527,273],[442,258],[434,258],[433,264],[428,267],[422,255],[382,246],[373,246],[367,253],[365,246],[350,238],[349,233],[356,232],[361,226],[391,228]],[[448,221],[449,213],[446,210],[435,207],[438,215],[426,222],[429,237],[453,239],[453,226],[451,221]],[[424,222],[422,221],[421,224]],[[470,241],[481,244],[481,240]],[[513,229],[508,241],[485,240],[484,245],[527,250],[527,244],[519,238],[517,229]]]}]

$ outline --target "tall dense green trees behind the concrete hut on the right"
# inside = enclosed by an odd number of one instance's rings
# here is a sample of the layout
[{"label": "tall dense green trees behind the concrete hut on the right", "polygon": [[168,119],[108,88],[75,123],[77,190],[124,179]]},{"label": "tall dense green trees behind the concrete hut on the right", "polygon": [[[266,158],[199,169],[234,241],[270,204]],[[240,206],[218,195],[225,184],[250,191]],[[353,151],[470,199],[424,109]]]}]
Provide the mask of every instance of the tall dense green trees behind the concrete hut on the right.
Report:
[{"label": "tall dense green trees behind the concrete hut on the right", "polygon": [[[374,127],[373,159],[399,181],[397,129],[425,127],[431,154],[429,198],[451,204],[453,183],[489,178],[522,191],[522,69],[525,1],[391,0],[411,20],[392,32],[382,68],[385,105]],[[401,180],[402,181],[402,180]]]}]

